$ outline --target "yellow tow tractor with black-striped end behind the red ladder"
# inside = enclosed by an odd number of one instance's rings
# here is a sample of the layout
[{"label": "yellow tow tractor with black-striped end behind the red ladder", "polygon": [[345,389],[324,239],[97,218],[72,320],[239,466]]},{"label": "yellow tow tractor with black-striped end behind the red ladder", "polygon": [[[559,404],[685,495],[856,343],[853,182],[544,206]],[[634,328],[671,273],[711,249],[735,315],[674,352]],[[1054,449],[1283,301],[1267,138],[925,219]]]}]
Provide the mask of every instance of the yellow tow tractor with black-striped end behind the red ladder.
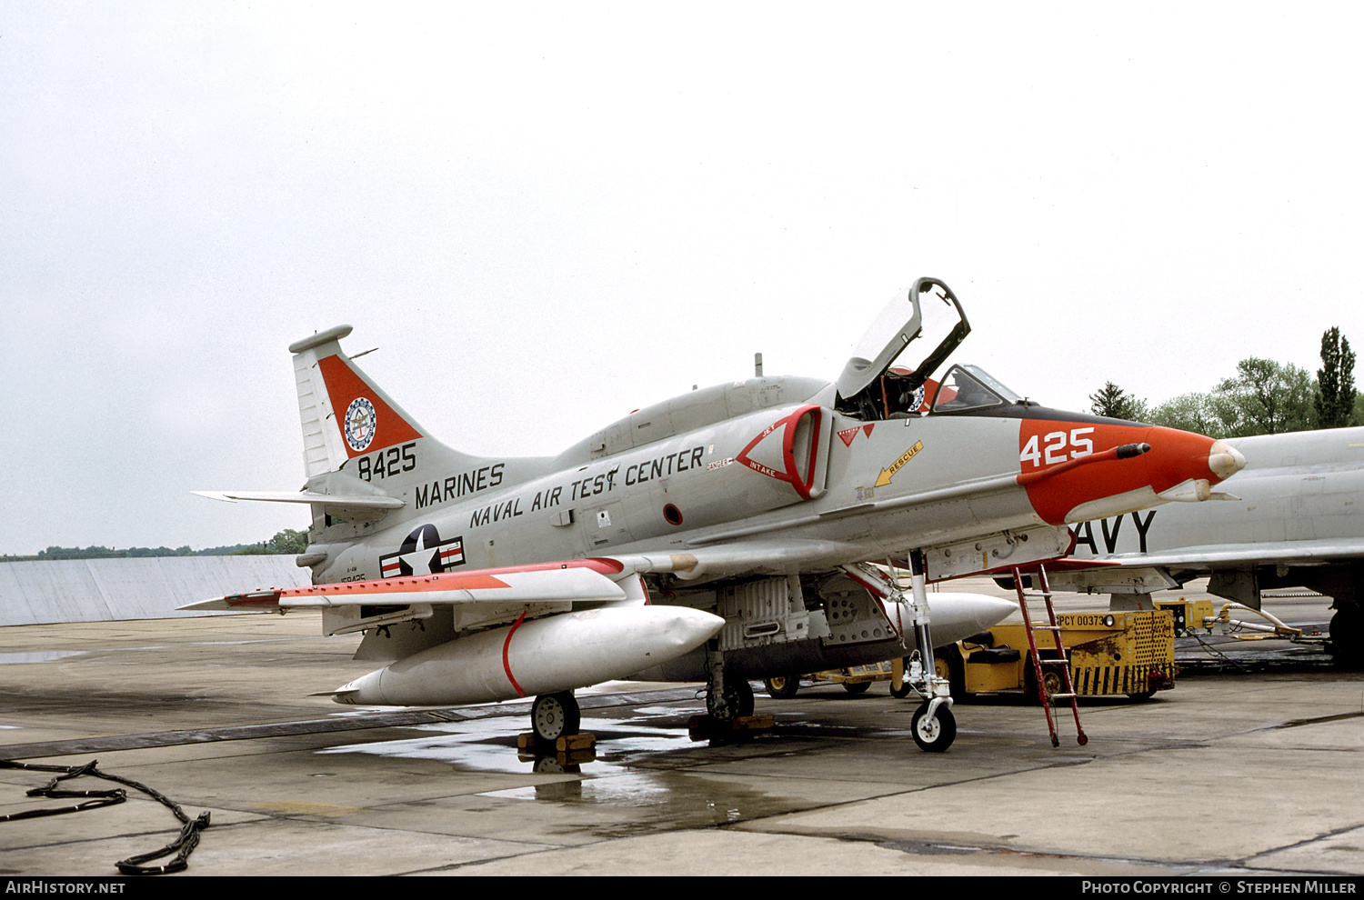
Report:
[{"label": "yellow tow tractor with black-striped end behind the red ladder", "polygon": [[[1174,615],[1166,610],[1131,612],[1063,612],[1056,616],[1069,655],[1071,680],[1080,697],[1127,694],[1150,700],[1174,687]],[[934,653],[937,674],[956,698],[971,694],[1023,691],[1037,695],[1023,623],[996,625]],[[1061,691],[1061,672],[1045,660],[1056,650],[1038,650],[1048,695]]]}]

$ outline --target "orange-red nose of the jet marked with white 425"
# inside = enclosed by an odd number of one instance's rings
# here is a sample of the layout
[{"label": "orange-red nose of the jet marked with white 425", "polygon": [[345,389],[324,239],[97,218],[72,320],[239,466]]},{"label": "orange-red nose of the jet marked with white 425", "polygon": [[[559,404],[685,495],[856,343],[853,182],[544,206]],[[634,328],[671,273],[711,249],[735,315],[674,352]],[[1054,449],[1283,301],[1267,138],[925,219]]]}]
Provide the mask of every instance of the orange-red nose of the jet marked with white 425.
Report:
[{"label": "orange-red nose of the jet marked with white 425", "polygon": [[[1174,428],[1109,421],[1079,423],[1024,420],[1019,483],[1027,488],[1033,509],[1052,525],[1123,515],[1166,500],[1207,499],[1209,487],[1245,466],[1245,457],[1221,440]],[[1030,454],[1028,449],[1056,445],[1064,450]],[[1088,440],[1091,446],[1071,445]],[[1150,445],[1146,453],[1117,447]],[[1030,465],[1031,464],[1031,465]],[[1054,473],[1052,470],[1054,469]]]}]

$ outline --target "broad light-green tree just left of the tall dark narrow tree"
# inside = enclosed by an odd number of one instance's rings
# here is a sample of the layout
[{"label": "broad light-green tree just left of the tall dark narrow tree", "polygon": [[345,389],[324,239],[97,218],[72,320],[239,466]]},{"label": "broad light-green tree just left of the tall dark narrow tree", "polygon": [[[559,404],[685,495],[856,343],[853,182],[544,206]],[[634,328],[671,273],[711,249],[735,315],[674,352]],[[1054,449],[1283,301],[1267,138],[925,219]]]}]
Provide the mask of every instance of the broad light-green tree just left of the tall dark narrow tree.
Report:
[{"label": "broad light-green tree just left of the tall dark narrow tree", "polygon": [[1278,435],[1312,427],[1316,387],[1305,368],[1251,356],[1213,391],[1225,438]]}]

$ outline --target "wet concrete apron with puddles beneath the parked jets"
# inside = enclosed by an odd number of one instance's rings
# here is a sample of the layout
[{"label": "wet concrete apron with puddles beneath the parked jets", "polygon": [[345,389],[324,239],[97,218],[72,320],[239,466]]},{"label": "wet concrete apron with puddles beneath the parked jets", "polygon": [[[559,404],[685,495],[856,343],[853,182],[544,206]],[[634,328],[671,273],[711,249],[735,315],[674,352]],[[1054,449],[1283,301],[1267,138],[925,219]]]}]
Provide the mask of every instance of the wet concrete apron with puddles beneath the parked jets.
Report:
[{"label": "wet concrete apron with puddles beneath the parked jets", "polygon": [[[1273,608],[1322,630],[1329,618],[1320,599]],[[374,668],[349,659],[356,642],[318,637],[307,615],[0,629],[0,758],[98,758],[191,817],[207,810],[173,878],[1364,874],[1364,674],[1320,646],[1183,642],[1174,690],[1082,706],[1083,747],[1067,719],[1053,749],[1041,709],[1004,697],[958,705],[956,743],[925,754],[915,704],[884,685],[760,693],[777,727],[709,746],[687,736],[697,686],[618,682],[580,691],[599,739],[582,761],[518,753],[528,702],[311,695]],[[1241,663],[1256,655],[1277,661]],[[0,769],[0,814],[65,805],[25,796],[48,777]],[[0,822],[0,873],[112,875],[177,830],[138,794]]]}]

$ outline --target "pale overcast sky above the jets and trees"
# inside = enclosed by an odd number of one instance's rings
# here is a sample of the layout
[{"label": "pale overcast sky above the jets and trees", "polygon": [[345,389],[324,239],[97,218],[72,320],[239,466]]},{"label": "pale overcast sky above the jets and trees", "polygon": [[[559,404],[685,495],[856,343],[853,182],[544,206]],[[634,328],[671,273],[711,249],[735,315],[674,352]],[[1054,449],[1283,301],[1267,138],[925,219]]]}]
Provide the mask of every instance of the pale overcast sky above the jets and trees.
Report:
[{"label": "pale overcast sky above the jets and trees", "polygon": [[[851,11],[848,11],[851,7]],[[0,0],[0,554],[304,509],[289,342],[552,454],[947,281],[1084,409],[1364,345],[1346,4]],[[18,428],[15,430],[15,425]]]}]

